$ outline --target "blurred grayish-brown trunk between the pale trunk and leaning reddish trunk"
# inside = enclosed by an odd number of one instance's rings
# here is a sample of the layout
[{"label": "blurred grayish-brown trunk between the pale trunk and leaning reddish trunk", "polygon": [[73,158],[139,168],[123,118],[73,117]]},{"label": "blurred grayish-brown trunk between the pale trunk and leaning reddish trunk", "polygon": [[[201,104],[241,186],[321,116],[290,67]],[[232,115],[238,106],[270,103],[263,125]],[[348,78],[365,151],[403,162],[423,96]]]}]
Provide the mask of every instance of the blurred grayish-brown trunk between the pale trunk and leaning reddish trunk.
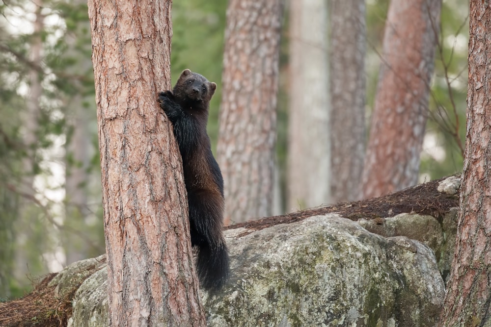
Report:
[{"label": "blurred grayish-brown trunk between the pale trunk and leaning reddish trunk", "polygon": [[329,2],[331,199],[361,198],[365,158],[365,1]]}]

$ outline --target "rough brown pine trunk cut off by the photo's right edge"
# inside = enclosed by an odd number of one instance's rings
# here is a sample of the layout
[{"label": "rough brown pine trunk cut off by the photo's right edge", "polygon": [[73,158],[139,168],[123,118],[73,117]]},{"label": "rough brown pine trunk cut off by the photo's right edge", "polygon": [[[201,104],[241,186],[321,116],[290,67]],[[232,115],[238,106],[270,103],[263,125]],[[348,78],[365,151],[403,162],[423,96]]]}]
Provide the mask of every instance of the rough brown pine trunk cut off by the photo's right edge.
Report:
[{"label": "rough brown pine trunk cut off by the photo's right edge", "polygon": [[491,326],[491,8],[470,1],[467,134],[455,256],[439,326]]}]

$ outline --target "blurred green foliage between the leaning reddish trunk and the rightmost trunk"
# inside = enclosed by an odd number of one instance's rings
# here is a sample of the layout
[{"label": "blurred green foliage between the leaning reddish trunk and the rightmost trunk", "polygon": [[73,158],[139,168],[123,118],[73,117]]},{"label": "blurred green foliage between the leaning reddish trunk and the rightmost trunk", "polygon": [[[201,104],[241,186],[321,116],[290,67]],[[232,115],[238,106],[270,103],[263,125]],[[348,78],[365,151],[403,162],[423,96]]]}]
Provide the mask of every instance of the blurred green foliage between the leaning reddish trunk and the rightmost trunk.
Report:
[{"label": "blurred green foliage between the leaning reddish trunk and the rightmost trunk", "polygon": [[462,171],[467,96],[468,3],[442,3],[439,45],[426,133],[432,148],[423,149],[422,174],[431,179]]}]

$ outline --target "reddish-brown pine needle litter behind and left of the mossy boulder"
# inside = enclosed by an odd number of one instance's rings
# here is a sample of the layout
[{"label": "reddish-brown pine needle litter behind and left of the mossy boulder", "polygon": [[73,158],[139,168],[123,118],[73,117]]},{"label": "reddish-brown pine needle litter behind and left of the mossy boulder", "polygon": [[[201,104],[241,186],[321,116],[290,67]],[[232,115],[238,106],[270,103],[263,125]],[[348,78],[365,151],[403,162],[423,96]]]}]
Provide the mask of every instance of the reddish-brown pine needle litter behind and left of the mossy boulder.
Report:
[{"label": "reddish-brown pine needle litter behind and left of the mossy boulder", "polygon": [[[226,226],[225,229],[245,227],[251,231],[259,230],[333,212],[354,221],[381,219],[381,222],[382,218],[400,213],[417,213],[435,217],[441,223],[450,208],[459,206],[459,193],[449,195],[438,192],[440,181],[426,182],[380,198],[305,209]],[[44,277],[31,293],[21,299],[0,302],[0,326],[66,326],[72,315],[72,299],[77,287],[63,297],[55,297],[55,286],[48,286],[55,275]]]}]

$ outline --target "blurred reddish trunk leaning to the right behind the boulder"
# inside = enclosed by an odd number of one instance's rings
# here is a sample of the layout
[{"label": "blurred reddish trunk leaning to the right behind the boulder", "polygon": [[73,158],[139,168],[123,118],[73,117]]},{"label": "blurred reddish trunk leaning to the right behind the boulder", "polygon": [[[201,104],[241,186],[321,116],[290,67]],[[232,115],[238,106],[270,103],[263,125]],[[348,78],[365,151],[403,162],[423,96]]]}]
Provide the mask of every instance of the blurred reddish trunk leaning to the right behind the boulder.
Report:
[{"label": "blurred reddish trunk leaning to the right behind the boulder", "polygon": [[414,185],[425,134],[441,0],[392,0],[363,171],[363,197]]}]

